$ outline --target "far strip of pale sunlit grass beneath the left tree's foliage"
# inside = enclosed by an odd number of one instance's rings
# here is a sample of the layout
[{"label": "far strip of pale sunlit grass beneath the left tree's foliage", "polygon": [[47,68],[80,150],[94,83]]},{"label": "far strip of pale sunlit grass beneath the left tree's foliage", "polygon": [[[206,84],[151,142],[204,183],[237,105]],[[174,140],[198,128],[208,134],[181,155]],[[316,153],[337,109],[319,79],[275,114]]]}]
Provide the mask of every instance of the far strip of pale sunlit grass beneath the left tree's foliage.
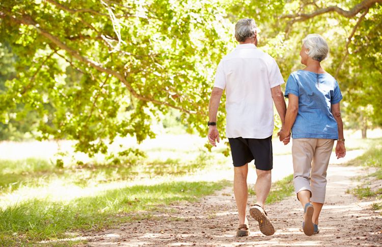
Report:
[{"label": "far strip of pale sunlit grass beneath the left tree's foliage", "polygon": [[[188,151],[187,151],[188,152]],[[188,152],[189,153],[189,152]],[[132,159],[122,163],[72,163],[64,168],[43,159],[0,160],[0,194],[20,187],[45,187],[52,180],[65,180],[67,184],[86,187],[113,181],[132,181],[157,176],[181,176],[199,171],[211,163],[212,155],[206,151],[188,154],[188,159]]]}]

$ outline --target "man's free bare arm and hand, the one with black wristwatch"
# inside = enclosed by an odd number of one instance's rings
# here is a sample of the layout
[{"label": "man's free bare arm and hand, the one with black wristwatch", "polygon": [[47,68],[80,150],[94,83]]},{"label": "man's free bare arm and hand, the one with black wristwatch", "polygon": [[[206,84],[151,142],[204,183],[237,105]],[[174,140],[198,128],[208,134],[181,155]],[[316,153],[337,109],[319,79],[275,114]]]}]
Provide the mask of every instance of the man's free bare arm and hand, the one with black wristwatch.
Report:
[{"label": "man's free bare arm and hand, the one with black wristwatch", "polygon": [[[209,105],[208,105],[209,122],[216,122],[217,109],[219,109],[220,99],[222,97],[222,94],[223,94],[223,89],[218,87],[212,88],[211,98],[209,100]],[[208,127],[208,140],[213,146],[216,146],[216,140],[217,142],[220,141],[219,132],[217,131],[216,126]]]}]

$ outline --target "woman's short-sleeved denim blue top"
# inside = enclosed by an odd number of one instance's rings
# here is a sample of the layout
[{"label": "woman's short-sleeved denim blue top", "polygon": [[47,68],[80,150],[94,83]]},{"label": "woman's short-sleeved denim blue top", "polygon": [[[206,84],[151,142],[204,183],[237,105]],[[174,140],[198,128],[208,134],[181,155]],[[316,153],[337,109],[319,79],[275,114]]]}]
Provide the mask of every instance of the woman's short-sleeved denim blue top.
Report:
[{"label": "woman's short-sleeved denim blue top", "polygon": [[342,100],[340,87],[329,73],[297,70],[290,74],[285,97],[298,96],[298,113],[292,138],[338,139],[337,121],[331,105]]}]

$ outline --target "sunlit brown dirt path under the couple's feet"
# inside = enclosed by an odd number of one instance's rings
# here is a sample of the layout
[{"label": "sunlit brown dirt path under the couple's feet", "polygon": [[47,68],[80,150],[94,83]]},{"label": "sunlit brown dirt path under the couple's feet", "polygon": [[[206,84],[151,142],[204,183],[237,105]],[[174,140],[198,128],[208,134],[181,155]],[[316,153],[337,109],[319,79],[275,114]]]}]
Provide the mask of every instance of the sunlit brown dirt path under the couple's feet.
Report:
[{"label": "sunlit brown dirt path under the couple's feet", "polygon": [[303,209],[295,196],[269,205],[266,210],[276,233],[264,236],[257,221],[249,217],[249,237],[235,237],[237,213],[232,188],[225,188],[193,204],[171,206],[171,213],[158,219],[121,225],[119,229],[83,236],[87,246],[381,246],[382,215],[370,210],[370,202],[346,194],[360,182],[364,167],[332,164],[328,170],[326,204],[320,233],[311,237],[301,230]]}]

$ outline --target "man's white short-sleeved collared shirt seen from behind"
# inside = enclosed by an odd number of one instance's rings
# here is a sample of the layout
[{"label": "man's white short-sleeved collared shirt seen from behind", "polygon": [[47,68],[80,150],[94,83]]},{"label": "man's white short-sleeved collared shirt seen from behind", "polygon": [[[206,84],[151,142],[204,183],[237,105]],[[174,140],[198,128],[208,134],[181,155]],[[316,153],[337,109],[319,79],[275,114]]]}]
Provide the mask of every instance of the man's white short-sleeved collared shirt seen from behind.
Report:
[{"label": "man's white short-sleeved collared shirt seen from behind", "polygon": [[271,136],[274,111],[270,89],[283,83],[275,59],[254,44],[239,44],[225,56],[217,66],[213,86],[226,90],[226,136]]}]

